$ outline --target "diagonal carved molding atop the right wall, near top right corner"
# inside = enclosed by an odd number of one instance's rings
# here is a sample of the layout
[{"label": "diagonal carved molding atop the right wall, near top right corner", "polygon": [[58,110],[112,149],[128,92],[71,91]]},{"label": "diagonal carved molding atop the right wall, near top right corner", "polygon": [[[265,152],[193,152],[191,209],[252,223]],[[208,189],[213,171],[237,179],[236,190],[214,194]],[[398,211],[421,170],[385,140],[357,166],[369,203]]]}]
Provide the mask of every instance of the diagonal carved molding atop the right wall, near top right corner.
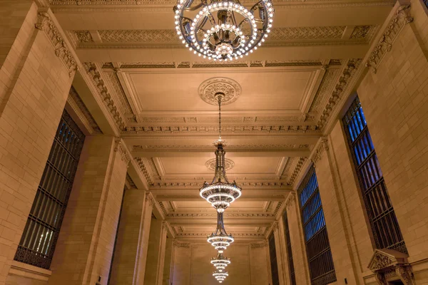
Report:
[{"label": "diagonal carved molding atop the right wall, near top right corner", "polygon": [[402,31],[406,24],[413,21],[413,17],[409,15],[410,5],[400,6],[394,17],[387,26],[387,29],[382,34],[377,46],[374,48],[365,65],[370,68],[373,73],[376,73],[377,66],[384,58],[385,54],[391,51],[392,44]]}]

